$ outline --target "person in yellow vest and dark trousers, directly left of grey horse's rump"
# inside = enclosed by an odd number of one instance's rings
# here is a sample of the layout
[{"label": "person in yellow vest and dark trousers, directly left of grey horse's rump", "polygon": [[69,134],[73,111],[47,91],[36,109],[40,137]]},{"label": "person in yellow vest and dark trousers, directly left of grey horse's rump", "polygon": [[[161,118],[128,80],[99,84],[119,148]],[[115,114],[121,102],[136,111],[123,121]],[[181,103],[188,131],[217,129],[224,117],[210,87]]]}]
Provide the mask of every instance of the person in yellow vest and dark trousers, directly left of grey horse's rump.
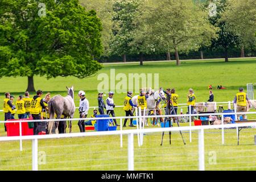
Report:
[{"label": "person in yellow vest and dark trousers, directly left of grey horse's rump", "polygon": [[[41,119],[41,112],[43,109],[46,109],[46,106],[44,105],[44,102],[42,100],[42,90],[38,90],[36,92],[36,96],[33,97],[31,101],[31,111],[30,114],[32,114],[32,118],[34,120]],[[34,135],[38,135],[39,132],[43,131],[43,127],[41,127],[41,122],[34,122]],[[42,130],[43,129],[43,130]],[[44,130],[46,132],[46,130]]]}]

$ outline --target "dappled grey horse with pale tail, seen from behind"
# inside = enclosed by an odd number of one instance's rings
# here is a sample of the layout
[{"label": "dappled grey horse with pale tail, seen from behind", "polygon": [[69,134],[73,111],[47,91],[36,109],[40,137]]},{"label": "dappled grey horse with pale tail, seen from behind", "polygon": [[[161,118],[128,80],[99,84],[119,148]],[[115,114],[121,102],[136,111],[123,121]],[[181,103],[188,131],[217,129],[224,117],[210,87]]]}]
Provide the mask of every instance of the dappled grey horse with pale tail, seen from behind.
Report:
[{"label": "dappled grey horse with pale tail, seen from behind", "polygon": [[[48,109],[50,119],[54,119],[55,114],[57,115],[57,119],[60,119],[61,115],[64,115],[64,118],[73,118],[76,110],[75,102],[74,102],[74,89],[73,86],[68,88],[68,96],[63,97],[60,95],[54,96],[49,100]],[[54,121],[49,121],[48,123],[48,134],[52,134],[52,128],[55,124]],[[59,121],[56,122],[55,125],[55,133],[58,134],[58,126]],[[69,122],[69,133],[72,131],[72,122]]]}]

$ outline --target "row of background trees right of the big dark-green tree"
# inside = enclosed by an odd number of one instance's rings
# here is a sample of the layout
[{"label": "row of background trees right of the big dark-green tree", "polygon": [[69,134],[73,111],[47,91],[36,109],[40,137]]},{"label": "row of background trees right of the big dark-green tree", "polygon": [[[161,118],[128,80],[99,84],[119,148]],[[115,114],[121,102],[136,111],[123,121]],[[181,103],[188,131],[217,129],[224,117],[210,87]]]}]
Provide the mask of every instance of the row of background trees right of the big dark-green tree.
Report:
[{"label": "row of background trees right of the big dark-green tree", "polygon": [[95,9],[105,29],[103,56],[143,55],[221,50],[255,50],[255,1],[253,0],[81,0]]}]

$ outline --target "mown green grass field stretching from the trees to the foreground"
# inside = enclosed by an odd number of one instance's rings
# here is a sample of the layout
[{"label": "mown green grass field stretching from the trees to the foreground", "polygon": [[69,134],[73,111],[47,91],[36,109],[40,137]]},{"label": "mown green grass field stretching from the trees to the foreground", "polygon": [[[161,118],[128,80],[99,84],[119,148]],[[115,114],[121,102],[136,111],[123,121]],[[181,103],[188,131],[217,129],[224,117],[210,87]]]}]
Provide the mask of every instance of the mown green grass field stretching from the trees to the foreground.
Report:
[{"label": "mown green grass field stretching from the trees to the foreground", "polygon": [[[138,63],[139,64],[139,63]],[[51,95],[66,95],[65,86],[73,85],[75,88],[75,104],[79,106],[79,90],[85,90],[90,106],[97,106],[97,85],[100,73],[110,73],[115,69],[118,73],[159,73],[159,86],[175,88],[179,94],[179,103],[185,103],[189,88],[193,88],[197,102],[205,102],[209,98],[208,85],[214,89],[214,101],[232,101],[238,88],[246,89],[247,83],[256,82],[256,59],[232,59],[229,63],[224,60],[183,61],[180,67],[174,62],[138,64],[105,65],[96,75],[78,79],[75,77],[57,77],[47,80],[44,77],[34,77],[35,88],[42,89]],[[116,81],[118,82],[118,81]],[[217,85],[226,89],[217,90]],[[0,100],[5,92],[11,92],[16,97],[23,94],[27,88],[26,77],[0,79]],[[35,93],[31,93],[34,95]],[[122,105],[126,94],[114,94],[115,105]],[[106,98],[106,97],[105,97]],[[224,109],[227,106],[224,106]],[[184,113],[187,109],[184,109]],[[254,110],[253,110],[254,111]],[[123,116],[122,108],[116,108],[117,116]],[[89,111],[92,114],[92,110]],[[248,115],[255,119],[254,115]],[[17,117],[17,116],[16,116]],[[78,117],[76,112],[75,117]],[[1,120],[4,119],[0,113]],[[118,121],[119,122],[119,121]],[[182,126],[187,123],[181,123]],[[129,129],[126,128],[126,129]],[[79,132],[77,122],[73,122],[73,132]],[[221,130],[205,131],[205,169],[207,170],[255,170],[256,148],[254,135],[256,129],[241,131],[241,145],[236,143],[236,130],[226,130],[225,144],[221,144]],[[5,136],[3,125],[0,125],[0,136]],[[172,135],[172,145],[168,144],[168,137],[164,138],[164,146],[160,147],[161,134],[148,134],[144,136],[144,144],[138,147],[137,137],[134,138],[135,170],[197,170],[197,133],[192,135],[189,143],[189,134],[184,133],[187,145],[183,145],[179,133]],[[87,137],[72,139],[40,140],[39,151],[46,152],[46,164],[40,165],[43,170],[126,170],[127,169],[127,137],[123,138],[124,146],[119,147],[118,136]],[[19,142],[1,142],[0,170],[30,170],[31,169],[31,142],[23,143],[23,151],[19,151]],[[217,163],[211,165],[208,159],[216,152]],[[81,160],[82,156],[82,160]],[[210,159],[209,159],[210,160]]]}]

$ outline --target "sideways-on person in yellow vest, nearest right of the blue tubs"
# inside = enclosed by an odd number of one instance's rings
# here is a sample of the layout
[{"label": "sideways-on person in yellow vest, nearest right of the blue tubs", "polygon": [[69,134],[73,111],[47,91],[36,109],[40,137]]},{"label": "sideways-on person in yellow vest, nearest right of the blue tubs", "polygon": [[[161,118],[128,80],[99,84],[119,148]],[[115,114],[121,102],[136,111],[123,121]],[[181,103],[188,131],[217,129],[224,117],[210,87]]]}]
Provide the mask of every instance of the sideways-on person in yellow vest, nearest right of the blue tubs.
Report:
[{"label": "sideways-on person in yellow vest, nearest right of the blue tubs", "polygon": [[[125,116],[133,116],[133,112],[131,111],[131,109],[133,109],[133,107],[137,107],[137,105],[134,105],[133,102],[131,101],[131,95],[133,94],[133,92],[128,91],[127,92],[127,96],[125,97],[125,101],[123,102],[123,110],[125,110]],[[125,118],[125,122],[123,123],[123,127],[126,127],[126,122],[127,122],[127,118]],[[133,118],[130,119],[130,127],[135,127],[133,125]]]}]

